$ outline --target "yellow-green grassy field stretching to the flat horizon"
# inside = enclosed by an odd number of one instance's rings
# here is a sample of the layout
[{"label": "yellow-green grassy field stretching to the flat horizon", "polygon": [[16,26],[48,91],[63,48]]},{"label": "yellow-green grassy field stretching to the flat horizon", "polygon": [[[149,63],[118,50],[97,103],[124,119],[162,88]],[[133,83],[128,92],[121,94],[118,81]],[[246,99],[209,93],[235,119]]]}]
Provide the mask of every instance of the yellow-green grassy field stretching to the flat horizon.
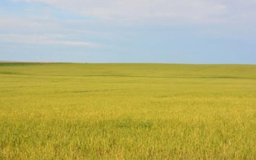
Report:
[{"label": "yellow-green grassy field stretching to the flat horizon", "polygon": [[1,63],[0,159],[255,159],[256,66]]}]

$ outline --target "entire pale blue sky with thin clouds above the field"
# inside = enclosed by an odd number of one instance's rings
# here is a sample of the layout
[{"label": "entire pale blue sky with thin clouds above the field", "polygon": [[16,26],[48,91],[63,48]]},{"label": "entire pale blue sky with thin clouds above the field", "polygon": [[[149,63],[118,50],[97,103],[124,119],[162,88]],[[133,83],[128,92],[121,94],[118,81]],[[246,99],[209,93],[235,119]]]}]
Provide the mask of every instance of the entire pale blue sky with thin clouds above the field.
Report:
[{"label": "entire pale blue sky with thin clouds above the field", "polygon": [[0,0],[0,60],[256,64],[256,0]]}]

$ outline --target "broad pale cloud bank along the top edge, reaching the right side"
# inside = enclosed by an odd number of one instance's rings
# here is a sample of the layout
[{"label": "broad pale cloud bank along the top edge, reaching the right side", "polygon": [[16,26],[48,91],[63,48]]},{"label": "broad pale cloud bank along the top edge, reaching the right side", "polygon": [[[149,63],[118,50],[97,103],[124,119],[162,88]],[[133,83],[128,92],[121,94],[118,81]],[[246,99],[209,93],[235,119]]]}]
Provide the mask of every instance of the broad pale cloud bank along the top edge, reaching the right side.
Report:
[{"label": "broad pale cloud bank along the top edge, reaching the right side", "polygon": [[[41,2],[112,24],[219,24],[256,19],[255,0],[11,0]],[[244,23],[244,22],[243,22]]]}]

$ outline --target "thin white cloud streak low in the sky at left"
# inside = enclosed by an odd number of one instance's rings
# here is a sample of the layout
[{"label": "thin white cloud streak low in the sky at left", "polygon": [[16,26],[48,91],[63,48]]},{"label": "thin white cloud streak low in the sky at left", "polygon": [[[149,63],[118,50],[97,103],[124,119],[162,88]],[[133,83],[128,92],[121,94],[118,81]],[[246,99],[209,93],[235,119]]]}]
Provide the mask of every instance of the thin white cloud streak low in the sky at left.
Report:
[{"label": "thin white cloud streak low in the sky at left", "polygon": [[15,42],[25,44],[46,44],[46,45],[73,45],[97,47],[100,44],[83,41],[59,40],[65,38],[65,35],[18,35],[18,34],[0,34],[0,42]]}]

